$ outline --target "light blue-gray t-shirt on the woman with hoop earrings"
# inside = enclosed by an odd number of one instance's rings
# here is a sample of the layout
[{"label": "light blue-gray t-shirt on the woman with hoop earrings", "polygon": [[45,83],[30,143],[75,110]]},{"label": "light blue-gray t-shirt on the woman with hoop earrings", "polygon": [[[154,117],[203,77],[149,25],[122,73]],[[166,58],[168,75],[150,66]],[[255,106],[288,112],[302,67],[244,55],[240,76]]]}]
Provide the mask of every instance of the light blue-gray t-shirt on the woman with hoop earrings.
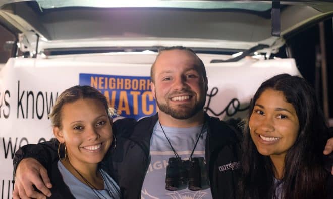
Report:
[{"label": "light blue-gray t-shirt on the woman with hoop earrings", "polygon": [[58,161],[57,165],[65,184],[67,184],[75,198],[121,198],[118,184],[103,169],[100,169],[100,173],[104,180],[104,189],[96,190],[78,180],[71,172],[69,172],[69,170],[67,170],[67,168],[65,168],[61,161]]}]

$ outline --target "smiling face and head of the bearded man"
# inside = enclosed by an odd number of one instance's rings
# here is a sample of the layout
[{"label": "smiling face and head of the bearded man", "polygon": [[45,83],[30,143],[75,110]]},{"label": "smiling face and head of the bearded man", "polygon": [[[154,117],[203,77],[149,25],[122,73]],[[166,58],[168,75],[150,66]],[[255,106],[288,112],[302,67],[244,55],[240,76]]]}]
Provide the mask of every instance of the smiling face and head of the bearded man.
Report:
[{"label": "smiling face and head of the bearded man", "polygon": [[195,55],[186,50],[163,51],[153,70],[151,88],[160,112],[188,119],[203,110],[207,80]]}]

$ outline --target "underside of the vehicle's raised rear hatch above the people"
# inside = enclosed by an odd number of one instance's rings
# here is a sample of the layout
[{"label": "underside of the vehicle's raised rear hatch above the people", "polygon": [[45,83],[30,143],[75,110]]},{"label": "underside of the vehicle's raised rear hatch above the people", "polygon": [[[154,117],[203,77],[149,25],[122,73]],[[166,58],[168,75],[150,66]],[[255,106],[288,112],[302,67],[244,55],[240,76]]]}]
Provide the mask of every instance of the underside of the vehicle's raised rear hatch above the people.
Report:
[{"label": "underside of the vehicle's raised rear hatch above the people", "polygon": [[[60,1],[61,2],[61,1]],[[66,1],[67,2],[67,1]],[[30,24],[41,38],[52,43],[60,40],[86,40],[88,38],[117,40],[130,38],[158,38],[165,40],[195,39],[201,41],[225,41],[227,45],[190,46],[200,53],[234,54],[248,50],[259,44],[272,46],[276,37],[271,36],[271,1],[247,1],[239,3],[230,1],[227,6],[220,2],[202,8],[200,5],[187,5],[182,8],[172,7],[92,7],[76,3],[56,5],[54,2],[28,1],[7,4],[2,10],[17,15]],[[177,2],[177,1],[176,1]],[[186,2],[186,1],[184,1]],[[250,3],[248,3],[250,2]],[[221,6],[224,5],[224,6]],[[249,6],[251,5],[251,6]],[[176,5],[177,6],[177,5]],[[333,8],[332,5],[330,5]],[[321,4],[306,6],[289,1],[281,3],[281,35],[295,32],[312,21],[327,18],[331,13],[329,7]],[[297,17],[290,17],[293,13]],[[121,22],[121,23],[120,23]],[[195,22],[195,23],[193,23]],[[184,26],[185,25],[185,26]],[[66,28],[65,28],[66,27]],[[89,27],[88,29],[86,27]],[[198,28],[199,27],[199,28]],[[81,31],[81,30],[85,31]],[[13,27],[14,31],[20,31]],[[177,31],[175,31],[177,30]],[[235,43],[242,42],[237,47]],[[114,41],[116,42],[116,41]],[[210,42],[210,43],[212,43]],[[247,45],[244,45],[247,44]],[[40,44],[42,45],[42,43]],[[160,46],[80,46],[74,47],[73,52],[138,52],[141,50],[157,51]],[[277,46],[280,48],[281,46]],[[44,51],[53,54],[63,54],[64,49],[52,48],[49,45]]]}]

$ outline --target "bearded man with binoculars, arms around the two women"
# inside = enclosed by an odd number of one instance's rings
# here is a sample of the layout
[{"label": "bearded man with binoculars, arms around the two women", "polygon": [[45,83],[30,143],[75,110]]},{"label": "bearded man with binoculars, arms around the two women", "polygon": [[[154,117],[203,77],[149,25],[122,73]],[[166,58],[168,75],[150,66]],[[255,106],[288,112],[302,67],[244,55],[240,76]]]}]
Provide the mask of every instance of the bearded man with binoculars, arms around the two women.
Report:
[{"label": "bearded man with binoculars, arms around the two women", "polygon": [[[124,198],[235,198],[240,139],[235,128],[203,111],[208,87],[202,61],[191,49],[166,48],[152,65],[151,79],[158,113],[138,122],[117,120],[113,125],[116,150],[102,162],[118,182]],[[55,150],[49,145],[28,145],[16,154],[14,166],[24,157],[34,157],[47,168],[57,160]],[[49,154],[51,157],[47,157]],[[189,172],[189,184],[190,189],[197,189],[192,185],[200,178],[201,190],[191,191],[184,185],[187,183],[179,180],[184,169],[172,163],[175,159],[167,166],[169,158],[175,157],[191,157],[192,167],[200,165],[201,177]],[[190,163],[181,165],[185,164]],[[32,158],[20,162],[14,199],[19,195],[43,198],[50,194],[44,167]],[[178,178],[172,171],[179,174]],[[169,189],[177,190],[166,190],[165,182]],[[33,184],[45,195],[34,191]]]}]

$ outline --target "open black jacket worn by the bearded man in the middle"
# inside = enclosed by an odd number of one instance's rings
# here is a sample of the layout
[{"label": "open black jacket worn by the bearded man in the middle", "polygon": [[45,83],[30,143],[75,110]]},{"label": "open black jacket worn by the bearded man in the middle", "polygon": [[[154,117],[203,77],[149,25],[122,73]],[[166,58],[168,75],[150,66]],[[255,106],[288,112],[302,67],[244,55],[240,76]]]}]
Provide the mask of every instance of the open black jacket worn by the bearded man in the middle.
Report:
[{"label": "open black jacket worn by the bearded man in the middle", "polygon": [[[100,166],[115,179],[124,198],[141,198],[143,180],[150,164],[150,139],[157,120],[158,115],[155,114],[138,122],[125,118],[113,124],[117,146],[114,151],[110,149]],[[207,114],[205,121],[208,131],[205,160],[212,196],[214,199],[235,198],[240,177],[238,131]],[[52,162],[58,161],[57,143],[50,141],[23,146],[15,154],[14,170],[24,157],[34,157],[45,168],[52,168]]]}]

